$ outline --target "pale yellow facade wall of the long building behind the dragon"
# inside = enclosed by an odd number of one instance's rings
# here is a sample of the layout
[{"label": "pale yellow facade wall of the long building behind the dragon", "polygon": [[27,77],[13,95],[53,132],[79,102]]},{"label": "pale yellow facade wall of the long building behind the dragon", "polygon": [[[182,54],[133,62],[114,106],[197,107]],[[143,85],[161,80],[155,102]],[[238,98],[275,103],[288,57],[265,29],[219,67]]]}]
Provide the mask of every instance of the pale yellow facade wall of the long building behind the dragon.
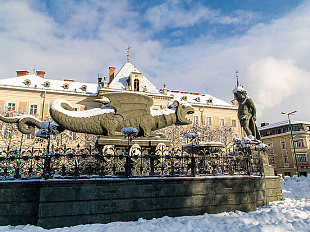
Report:
[{"label": "pale yellow facade wall of the long building behind the dragon", "polygon": [[[24,77],[21,77],[24,78]],[[29,114],[31,105],[36,105],[36,116],[43,121],[49,119],[49,104],[54,99],[64,99],[69,101],[78,111],[97,108],[102,106],[101,103],[96,102],[98,98],[103,98],[102,94],[107,92],[115,92],[113,89],[102,89],[98,96],[90,96],[83,93],[74,93],[72,91],[56,91],[52,89],[35,89],[33,87],[14,87],[0,85],[0,110],[2,113],[6,112],[9,103],[15,104],[15,111]],[[172,96],[167,94],[151,94],[145,93],[154,100],[153,109],[163,110],[167,108],[167,104],[173,100]],[[198,95],[199,96],[199,95]],[[235,120],[236,125],[232,127],[233,133],[241,137],[241,127],[237,118],[237,109],[234,107],[223,107],[208,104],[192,104],[195,113],[188,115],[188,118],[194,121],[197,118],[198,124],[207,124],[206,117],[211,117],[211,128],[220,127],[220,119],[224,121],[224,126],[231,126],[232,119]],[[5,147],[3,143],[0,146]]]}]

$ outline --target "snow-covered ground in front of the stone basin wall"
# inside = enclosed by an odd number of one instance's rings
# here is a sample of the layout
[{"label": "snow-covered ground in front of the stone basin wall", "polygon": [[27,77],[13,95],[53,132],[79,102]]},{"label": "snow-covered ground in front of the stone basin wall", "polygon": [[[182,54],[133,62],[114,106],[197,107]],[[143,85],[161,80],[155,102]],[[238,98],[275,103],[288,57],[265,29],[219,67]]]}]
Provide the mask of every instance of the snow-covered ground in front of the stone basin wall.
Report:
[{"label": "snow-covered ground in front of the stone basin wall", "polygon": [[[136,222],[78,225],[50,231],[310,231],[310,177],[282,181],[283,201],[272,202],[255,212],[240,211],[201,216],[163,217]],[[31,225],[0,226],[2,231],[48,231]]]}]

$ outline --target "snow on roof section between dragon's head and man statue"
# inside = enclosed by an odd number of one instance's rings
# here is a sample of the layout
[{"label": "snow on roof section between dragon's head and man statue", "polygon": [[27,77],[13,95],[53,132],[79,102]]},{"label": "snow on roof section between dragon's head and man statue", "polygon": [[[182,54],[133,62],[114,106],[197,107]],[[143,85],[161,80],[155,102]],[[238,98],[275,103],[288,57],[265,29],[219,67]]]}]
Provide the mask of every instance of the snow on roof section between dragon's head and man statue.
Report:
[{"label": "snow on roof section between dragon's head and man statue", "polygon": [[190,104],[208,104],[208,106],[214,107],[227,107],[227,108],[237,108],[237,106],[225,102],[219,98],[216,98],[210,94],[199,95],[199,94],[190,94],[182,92],[168,92],[168,95],[173,96],[173,100],[188,102]]}]

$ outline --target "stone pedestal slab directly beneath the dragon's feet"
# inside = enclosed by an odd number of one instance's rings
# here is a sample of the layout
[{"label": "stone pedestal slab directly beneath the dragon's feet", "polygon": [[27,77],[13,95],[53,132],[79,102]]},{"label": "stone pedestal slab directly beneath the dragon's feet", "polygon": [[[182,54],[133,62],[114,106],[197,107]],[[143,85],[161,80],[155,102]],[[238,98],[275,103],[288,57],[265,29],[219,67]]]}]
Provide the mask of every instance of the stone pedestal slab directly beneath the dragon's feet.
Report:
[{"label": "stone pedestal slab directly beneath the dragon's feet", "polygon": [[[166,138],[138,137],[129,142],[130,146],[134,144],[138,144],[140,147],[156,147],[158,144],[170,146],[171,142]],[[97,139],[96,146],[103,147],[107,145],[125,147],[128,146],[128,139],[124,136],[101,136]]]}]

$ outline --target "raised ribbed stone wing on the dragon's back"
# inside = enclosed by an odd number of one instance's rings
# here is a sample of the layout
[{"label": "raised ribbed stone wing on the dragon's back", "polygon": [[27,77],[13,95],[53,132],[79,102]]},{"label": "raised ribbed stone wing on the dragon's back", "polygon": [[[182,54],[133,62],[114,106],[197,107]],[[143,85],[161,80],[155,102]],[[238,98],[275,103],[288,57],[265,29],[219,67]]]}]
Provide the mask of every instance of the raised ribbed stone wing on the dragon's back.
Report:
[{"label": "raised ribbed stone wing on the dragon's back", "polygon": [[110,100],[110,106],[124,120],[150,114],[150,107],[154,103],[151,97],[138,93],[105,93],[103,96]]}]

